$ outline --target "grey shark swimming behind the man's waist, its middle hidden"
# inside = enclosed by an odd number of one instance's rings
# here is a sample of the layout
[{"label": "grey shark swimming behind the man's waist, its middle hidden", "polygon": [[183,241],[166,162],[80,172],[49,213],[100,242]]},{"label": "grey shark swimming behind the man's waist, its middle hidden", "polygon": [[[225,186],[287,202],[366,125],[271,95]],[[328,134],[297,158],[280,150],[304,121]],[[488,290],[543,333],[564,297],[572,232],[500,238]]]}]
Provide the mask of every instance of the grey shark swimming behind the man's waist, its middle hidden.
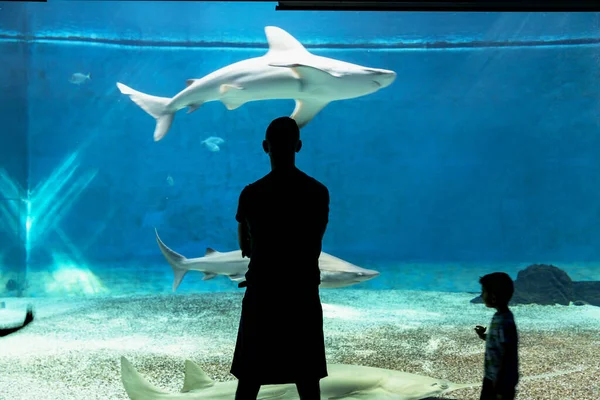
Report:
[{"label": "grey shark swimming behind the man's waist, its middle hidden", "polygon": [[[156,229],[154,232],[160,251],[173,268],[173,291],[177,290],[188,271],[203,272],[205,281],[217,275],[225,275],[234,282],[245,280],[250,260],[242,257],[241,250],[222,253],[208,248],[204,257],[186,258],[168,248],[158,236]],[[321,252],[319,256],[319,269],[321,288],[351,286],[379,276],[377,271],[358,267],[325,252]]]}]

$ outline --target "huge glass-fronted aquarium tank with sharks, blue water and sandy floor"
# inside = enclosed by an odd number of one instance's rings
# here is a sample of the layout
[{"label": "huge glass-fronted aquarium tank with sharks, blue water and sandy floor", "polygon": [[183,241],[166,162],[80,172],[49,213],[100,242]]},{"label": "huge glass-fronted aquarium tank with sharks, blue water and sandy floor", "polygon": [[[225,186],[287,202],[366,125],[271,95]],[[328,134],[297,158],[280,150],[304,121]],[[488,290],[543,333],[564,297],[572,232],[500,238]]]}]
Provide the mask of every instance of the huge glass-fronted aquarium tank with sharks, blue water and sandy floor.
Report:
[{"label": "huge glass-fronted aquarium tank with sharks, blue water and sandy floor", "polygon": [[323,398],[479,399],[503,272],[517,398],[599,399],[600,13],[275,6],[0,2],[0,399],[234,398],[282,116],[330,193]]}]

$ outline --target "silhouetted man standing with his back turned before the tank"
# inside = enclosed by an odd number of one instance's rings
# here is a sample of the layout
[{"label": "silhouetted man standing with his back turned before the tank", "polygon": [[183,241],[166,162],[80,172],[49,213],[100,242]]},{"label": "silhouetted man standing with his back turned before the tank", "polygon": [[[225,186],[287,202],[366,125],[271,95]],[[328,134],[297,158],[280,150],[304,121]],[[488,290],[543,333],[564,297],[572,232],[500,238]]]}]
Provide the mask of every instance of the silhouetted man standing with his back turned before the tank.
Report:
[{"label": "silhouetted man standing with his back turned before the tank", "polygon": [[271,172],[240,194],[238,240],[250,264],[231,367],[236,400],[284,383],[295,383],[302,400],[319,400],[327,376],[319,255],[329,191],[296,168],[301,147],[293,119],[271,122],[263,141]]}]

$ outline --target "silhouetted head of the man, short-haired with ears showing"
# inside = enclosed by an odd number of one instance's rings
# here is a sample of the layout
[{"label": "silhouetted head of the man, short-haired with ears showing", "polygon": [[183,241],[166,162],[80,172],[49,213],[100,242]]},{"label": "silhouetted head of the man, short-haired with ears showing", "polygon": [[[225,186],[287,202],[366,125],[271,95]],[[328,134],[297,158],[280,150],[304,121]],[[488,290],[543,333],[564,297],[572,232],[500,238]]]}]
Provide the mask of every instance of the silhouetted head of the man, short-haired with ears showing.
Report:
[{"label": "silhouetted head of the man, short-haired with ears showing", "polygon": [[263,140],[263,150],[271,160],[294,159],[294,154],[302,148],[300,129],[298,124],[290,117],[274,119]]}]

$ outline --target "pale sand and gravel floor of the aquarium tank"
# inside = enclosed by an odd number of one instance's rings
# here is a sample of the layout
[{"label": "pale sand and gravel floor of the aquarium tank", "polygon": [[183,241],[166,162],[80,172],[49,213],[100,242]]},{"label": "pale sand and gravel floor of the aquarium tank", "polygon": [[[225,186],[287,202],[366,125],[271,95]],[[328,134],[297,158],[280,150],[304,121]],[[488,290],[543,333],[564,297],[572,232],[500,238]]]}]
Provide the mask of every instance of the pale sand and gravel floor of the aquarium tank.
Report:
[{"label": "pale sand and gravel floor of the aquarium tank", "polygon": [[[493,310],[469,303],[473,294],[322,290],[321,298],[329,362],[481,381],[484,342],[473,327],[487,326]],[[185,359],[217,381],[234,379],[241,293],[1,300],[15,322],[27,302],[37,312],[26,330],[0,339],[2,400],[127,399],[121,356],[173,393],[181,390]],[[600,307],[512,309],[522,375],[547,374],[524,379],[517,398],[598,400]],[[445,398],[477,400],[479,388]]]}]

